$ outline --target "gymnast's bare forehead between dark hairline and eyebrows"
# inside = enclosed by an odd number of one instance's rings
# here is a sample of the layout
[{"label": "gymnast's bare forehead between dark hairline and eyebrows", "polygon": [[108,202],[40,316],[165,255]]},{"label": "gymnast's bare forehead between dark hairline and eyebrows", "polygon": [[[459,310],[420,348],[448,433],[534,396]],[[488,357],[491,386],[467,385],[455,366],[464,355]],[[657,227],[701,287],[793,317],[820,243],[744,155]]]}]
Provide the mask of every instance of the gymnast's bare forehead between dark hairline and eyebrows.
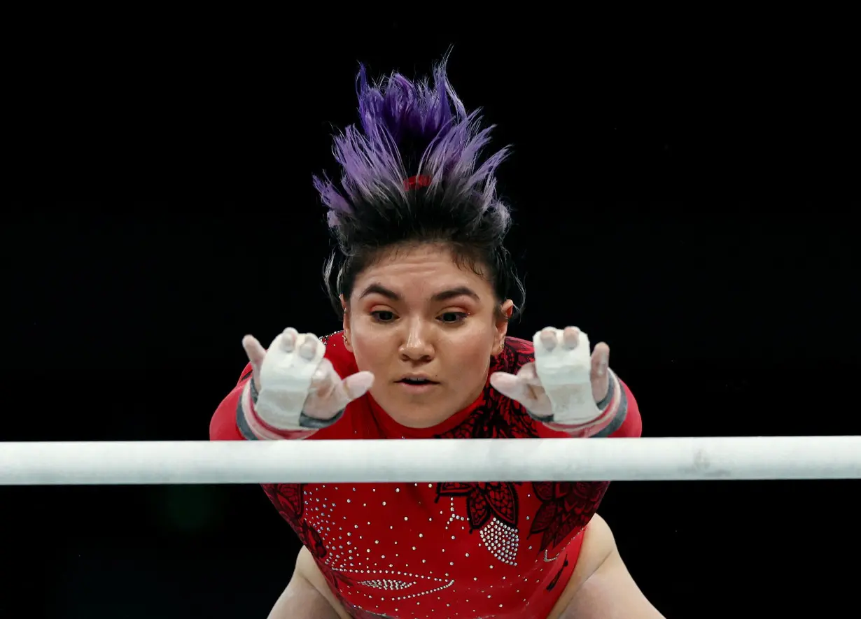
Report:
[{"label": "gymnast's bare forehead between dark hairline and eyebrows", "polygon": [[[462,263],[460,263],[462,262]],[[475,271],[479,273],[475,273]],[[405,295],[427,296],[439,288],[468,286],[480,296],[491,295],[492,288],[480,268],[468,261],[457,261],[444,246],[420,245],[395,248],[381,254],[356,277],[356,292],[373,283],[398,287]]]}]

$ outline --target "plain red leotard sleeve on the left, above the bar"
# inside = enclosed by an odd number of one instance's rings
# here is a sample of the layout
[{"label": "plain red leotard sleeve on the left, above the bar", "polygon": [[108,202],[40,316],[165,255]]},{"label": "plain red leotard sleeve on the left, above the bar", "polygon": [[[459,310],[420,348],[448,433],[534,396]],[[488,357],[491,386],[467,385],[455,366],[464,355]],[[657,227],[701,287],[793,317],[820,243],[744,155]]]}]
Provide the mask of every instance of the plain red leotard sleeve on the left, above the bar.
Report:
[{"label": "plain red leotard sleeve on the left, above the bar", "polygon": [[317,430],[278,430],[260,419],[251,397],[251,364],[245,366],[236,387],[221,401],[209,422],[210,440],[301,439],[314,432]]}]

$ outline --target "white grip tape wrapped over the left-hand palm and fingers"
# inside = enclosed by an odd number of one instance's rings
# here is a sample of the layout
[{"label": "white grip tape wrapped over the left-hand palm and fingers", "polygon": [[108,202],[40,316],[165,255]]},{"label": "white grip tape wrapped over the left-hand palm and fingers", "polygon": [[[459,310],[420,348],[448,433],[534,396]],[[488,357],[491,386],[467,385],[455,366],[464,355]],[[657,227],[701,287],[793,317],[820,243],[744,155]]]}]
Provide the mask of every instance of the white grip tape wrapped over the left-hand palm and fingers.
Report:
[{"label": "white grip tape wrapped over the left-hand palm and fingers", "polygon": [[257,416],[269,426],[282,430],[300,428],[299,418],[311,390],[314,373],[325,356],[325,344],[317,341],[313,359],[305,359],[299,353],[302,343],[308,338],[318,340],[314,334],[299,334],[293,351],[282,347],[284,334],[279,334],[263,358],[260,366],[260,395],[255,410]]}]

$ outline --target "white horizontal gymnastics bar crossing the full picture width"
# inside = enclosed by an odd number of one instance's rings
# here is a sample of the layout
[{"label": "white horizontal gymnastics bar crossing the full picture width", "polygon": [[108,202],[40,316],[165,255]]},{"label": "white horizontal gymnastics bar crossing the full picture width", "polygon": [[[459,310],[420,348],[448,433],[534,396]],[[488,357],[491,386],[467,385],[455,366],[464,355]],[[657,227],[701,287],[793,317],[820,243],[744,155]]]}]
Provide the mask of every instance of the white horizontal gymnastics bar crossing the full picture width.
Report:
[{"label": "white horizontal gymnastics bar crossing the full picture width", "polygon": [[0,485],[861,479],[861,437],[0,443]]}]

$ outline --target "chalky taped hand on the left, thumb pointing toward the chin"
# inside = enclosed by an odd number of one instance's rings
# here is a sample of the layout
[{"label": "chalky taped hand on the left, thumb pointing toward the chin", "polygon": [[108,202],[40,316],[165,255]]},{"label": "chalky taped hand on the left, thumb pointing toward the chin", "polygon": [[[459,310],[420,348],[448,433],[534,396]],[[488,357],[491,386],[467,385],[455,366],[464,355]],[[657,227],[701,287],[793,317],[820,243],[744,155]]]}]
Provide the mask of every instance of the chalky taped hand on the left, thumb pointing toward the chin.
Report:
[{"label": "chalky taped hand on the left, thumb pointing toward the chin", "polygon": [[331,420],[374,383],[369,371],[341,379],[325,359],[325,344],[314,334],[286,328],[263,349],[246,335],[242,346],[251,362],[252,380],[259,392],[257,414],[275,427],[298,424],[300,414]]}]

